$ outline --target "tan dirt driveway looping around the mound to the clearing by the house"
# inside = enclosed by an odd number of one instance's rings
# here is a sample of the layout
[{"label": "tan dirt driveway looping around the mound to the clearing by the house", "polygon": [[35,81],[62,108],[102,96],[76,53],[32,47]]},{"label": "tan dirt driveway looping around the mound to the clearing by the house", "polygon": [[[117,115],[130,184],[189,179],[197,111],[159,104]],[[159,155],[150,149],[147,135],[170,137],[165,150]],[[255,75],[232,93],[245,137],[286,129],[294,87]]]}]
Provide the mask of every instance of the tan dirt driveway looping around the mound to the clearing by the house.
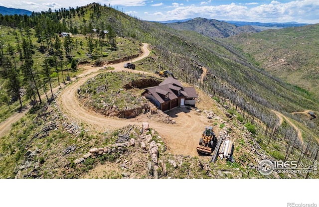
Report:
[{"label": "tan dirt driveway looping around the mound to the clearing by the house", "polygon": [[[143,55],[134,59],[133,62],[143,59],[150,53],[146,46],[147,44],[144,44]],[[113,71],[134,71],[136,73],[140,72],[148,74],[142,71],[126,69],[123,67],[123,63],[114,64],[112,67],[115,68]],[[206,125],[209,125],[209,123],[206,116],[201,115],[194,110],[189,111],[186,108],[176,108],[170,111],[170,115],[176,121],[176,124],[165,124],[149,119],[146,115],[139,115],[132,119],[122,119],[105,116],[84,107],[77,100],[75,93],[88,79],[96,76],[98,73],[92,72],[97,72],[100,68],[89,69],[84,73],[86,76],[81,76],[83,78],[80,78],[77,82],[74,82],[62,91],[58,98],[58,104],[60,104],[64,113],[77,122],[86,123],[93,131],[117,129],[129,124],[142,125],[143,122],[147,121],[150,123],[151,128],[159,132],[171,153],[198,156],[196,146],[199,142],[201,132]],[[208,97],[203,97],[203,99],[206,98],[209,99]],[[204,159],[209,159],[209,157],[205,157]]]}]

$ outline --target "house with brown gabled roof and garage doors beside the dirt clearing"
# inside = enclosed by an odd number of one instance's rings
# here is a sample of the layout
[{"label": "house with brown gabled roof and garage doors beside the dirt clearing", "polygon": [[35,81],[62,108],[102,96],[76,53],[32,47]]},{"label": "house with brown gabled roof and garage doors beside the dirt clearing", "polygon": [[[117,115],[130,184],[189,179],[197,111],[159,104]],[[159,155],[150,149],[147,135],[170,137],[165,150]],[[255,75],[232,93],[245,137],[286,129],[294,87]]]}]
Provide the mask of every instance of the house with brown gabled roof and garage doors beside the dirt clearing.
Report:
[{"label": "house with brown gabled roof and garage doors beside the dirt clearing", "polygon": [[162,111],[178,106],[195,106],[195,98],[198,97],[194,87],[184,87],[179,81],[171,77],[165,79],[159,86],[146,88],[142,96],[152,100]]}]

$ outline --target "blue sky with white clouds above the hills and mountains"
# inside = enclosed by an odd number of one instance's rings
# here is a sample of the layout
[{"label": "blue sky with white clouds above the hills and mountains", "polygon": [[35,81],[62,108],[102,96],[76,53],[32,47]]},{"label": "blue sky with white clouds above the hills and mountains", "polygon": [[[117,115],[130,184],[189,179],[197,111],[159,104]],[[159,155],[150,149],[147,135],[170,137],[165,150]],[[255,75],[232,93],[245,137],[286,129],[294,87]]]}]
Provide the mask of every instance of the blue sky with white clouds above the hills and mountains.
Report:
[{"label": "blue sky with white clouds above the hills and mountains", "polygon": [[111,4],[144,20],[195,17],[219,20],[319,23],[319,0],[1,0],[0,5],[31,11]]}]

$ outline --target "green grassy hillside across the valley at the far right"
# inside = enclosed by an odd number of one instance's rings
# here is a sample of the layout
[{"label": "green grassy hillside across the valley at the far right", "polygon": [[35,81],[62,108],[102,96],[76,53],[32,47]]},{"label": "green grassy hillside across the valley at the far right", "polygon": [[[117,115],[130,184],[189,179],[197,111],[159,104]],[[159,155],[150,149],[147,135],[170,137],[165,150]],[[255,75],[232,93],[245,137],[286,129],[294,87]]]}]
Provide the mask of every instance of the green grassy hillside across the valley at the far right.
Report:
[{"label": "green grassy hillside across the valley at the far right", "polygon": [[225,41],[250,54],[274,76],[318,99],[318,32],[319,25],[315,24],[240,34]]}]

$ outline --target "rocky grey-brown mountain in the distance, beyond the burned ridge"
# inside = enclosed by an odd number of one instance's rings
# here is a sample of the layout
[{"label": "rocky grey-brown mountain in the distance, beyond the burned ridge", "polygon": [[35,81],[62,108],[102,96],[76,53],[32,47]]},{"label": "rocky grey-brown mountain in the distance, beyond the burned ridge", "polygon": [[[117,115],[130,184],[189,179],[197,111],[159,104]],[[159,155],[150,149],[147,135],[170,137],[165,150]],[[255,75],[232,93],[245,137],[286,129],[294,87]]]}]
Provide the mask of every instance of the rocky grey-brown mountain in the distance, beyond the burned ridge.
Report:
[{"label": "rocky grey-brown mountain in the distance, beyond the burned ridge", "polygon": [[208,37],[219,38],[226,38],[240,33],[256,33],[261,31],[250,25],[236,26],[235,24],[225,21],[200,17],[184,22],[165,23],[165,25],[177,30],[191,30]]}]

